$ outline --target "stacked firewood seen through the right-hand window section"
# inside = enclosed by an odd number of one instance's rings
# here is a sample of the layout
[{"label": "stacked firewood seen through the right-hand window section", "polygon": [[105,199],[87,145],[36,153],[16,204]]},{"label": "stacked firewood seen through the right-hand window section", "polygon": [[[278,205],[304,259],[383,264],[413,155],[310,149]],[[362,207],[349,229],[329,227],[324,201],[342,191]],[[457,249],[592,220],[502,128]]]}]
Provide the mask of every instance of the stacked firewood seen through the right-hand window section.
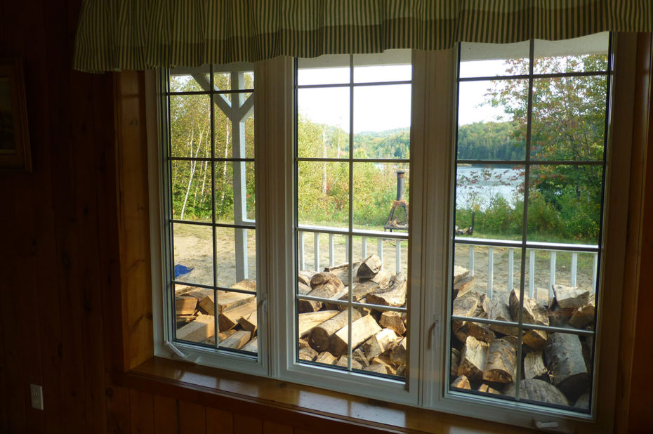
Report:
[{"label": "stacked firewood seen through the right-hand window section", "polygon": [[[594,294],[563,285],[554,285],[553,294],[548,303],[528,296],[524,299],[520,397],[588,409],[593,337],[528,329],[528,324],[591,330]],[[474,290],[474,277],[459,267],[454,297],[452,315],[519,322],[518,291],[494,291],[490,299]],[[517,344],[517,327],[509,324],[453,321],[451,387],[514,396]]]}]

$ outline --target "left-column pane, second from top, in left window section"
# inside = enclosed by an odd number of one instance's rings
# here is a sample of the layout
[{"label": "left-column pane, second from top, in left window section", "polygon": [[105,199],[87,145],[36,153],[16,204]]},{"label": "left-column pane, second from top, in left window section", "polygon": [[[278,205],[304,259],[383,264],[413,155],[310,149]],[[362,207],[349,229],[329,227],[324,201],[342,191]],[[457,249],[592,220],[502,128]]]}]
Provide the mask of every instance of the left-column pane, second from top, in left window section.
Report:
[{"label": "left-column pane, second from top, in left window section", "polygon": [[211,157],[211,107],[208,95],[170,96],[171,157]]}]

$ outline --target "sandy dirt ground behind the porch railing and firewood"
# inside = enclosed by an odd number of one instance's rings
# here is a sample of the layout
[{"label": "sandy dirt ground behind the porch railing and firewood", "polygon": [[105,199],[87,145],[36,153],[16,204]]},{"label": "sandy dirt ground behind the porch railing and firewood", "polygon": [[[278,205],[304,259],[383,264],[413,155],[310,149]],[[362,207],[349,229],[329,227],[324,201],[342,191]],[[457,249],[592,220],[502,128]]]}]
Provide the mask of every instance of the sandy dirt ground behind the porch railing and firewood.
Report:
[{"label": "sandy dirt ground behind the porch railing and firewood", "polygon": [[[175,262],[194,267],[187,281],[199,284],[213,284],[213,265],[211,257],[211,228],[199,225],[174,225]],[[248,278],[256,279],[256,231],[246,230],[248,251]],[[234,230],[217,228],[216,230],[216,272],[217,282],[221,287],[230,287],[236,282],[236,257],[234,248]],[[402,242],[400,251],[400,270],[407,271],[408,243]],[[383,266],[388,270],[396,268],[396,241],[385,239],[383,241]],[[310,232],[304,236],[304,268],[315,269],[315,237]],[[377,239],[367,238],[367,255],[378,254]],[[508,288],[508,249],[494,247],[493,289],[506,291]],[[363,257],[362,239],[355,237],[353,244],[353,257],[355,261]],[[455,264],[469,268],[469,246],[458,245],[455,252]],[[476,246],[474,250],[474,273],[476,277],[475,288],[477,291],[487,291],[488,280],[488,249]],[[539,288],[538,297],[548,298],[549,265],[548,252],[536,252],[535,284]],[[343,235],[334,236],[334,263],[346,261],[346,244]],[[529,261],[526,261],[525,287],[528,289]],[[520,251],[515,249],[513,260],[513,288],[518,289],[520,284]],[[319,235],[319,268],[329,266],[329,235]],[[570,284],[571,254],[557,254],[555,280],[556,283]],[[579,254],[576,285],[591,289],[593,272],[593,256]]]}]

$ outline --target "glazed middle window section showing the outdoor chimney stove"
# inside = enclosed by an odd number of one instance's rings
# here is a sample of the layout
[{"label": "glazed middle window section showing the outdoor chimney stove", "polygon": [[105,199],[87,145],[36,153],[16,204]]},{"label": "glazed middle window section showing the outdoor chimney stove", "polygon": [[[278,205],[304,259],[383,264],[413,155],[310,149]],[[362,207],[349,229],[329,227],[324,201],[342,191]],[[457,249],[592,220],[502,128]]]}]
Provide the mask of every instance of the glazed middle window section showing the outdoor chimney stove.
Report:
[{"label": "glazed middle window section showing the outdoor chimney stove", "polygon": [[296,70],[298,360],[402,378],[410,51]]}]

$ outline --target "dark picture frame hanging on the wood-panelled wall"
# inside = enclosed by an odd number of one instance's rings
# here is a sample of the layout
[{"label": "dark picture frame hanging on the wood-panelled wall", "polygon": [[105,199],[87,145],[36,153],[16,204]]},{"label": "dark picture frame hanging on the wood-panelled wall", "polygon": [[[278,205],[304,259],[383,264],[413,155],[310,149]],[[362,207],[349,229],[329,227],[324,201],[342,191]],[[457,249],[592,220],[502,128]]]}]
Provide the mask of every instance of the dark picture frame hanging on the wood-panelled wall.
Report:
[{"label": "dark picture frame hanging on the wood-panelled wall", "polygon": [[0,60],[0,171],[32,171],[20,58]]}]

